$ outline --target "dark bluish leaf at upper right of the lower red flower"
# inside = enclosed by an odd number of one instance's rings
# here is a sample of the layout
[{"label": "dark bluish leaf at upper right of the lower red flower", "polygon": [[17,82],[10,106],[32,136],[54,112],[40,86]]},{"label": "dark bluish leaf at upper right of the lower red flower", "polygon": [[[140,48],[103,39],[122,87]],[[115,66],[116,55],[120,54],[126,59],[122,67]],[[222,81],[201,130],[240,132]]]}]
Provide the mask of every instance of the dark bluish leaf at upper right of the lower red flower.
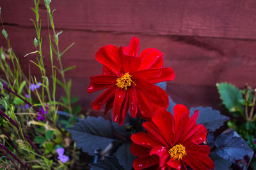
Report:
[{"label": "dark bluish leaf at upper right of the lower red flower", "polygon": [[216,129],[219,129],[224,122],[229,118],[220,114],[218,110],[212,110],[211,107],[203,108],[191,108],[190,117],[194,114],[196,110],[199,110],[198,118],[196,120],[197,124],[203,124],[209,132],[214,132]]}]

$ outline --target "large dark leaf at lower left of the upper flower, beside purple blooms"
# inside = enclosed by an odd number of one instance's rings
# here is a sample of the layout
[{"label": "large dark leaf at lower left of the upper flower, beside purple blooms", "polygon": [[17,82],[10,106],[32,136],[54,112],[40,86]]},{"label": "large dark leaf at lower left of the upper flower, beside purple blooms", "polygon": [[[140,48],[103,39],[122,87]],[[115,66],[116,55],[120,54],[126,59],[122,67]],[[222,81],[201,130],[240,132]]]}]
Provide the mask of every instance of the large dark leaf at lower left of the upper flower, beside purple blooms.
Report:
[{"label": "large dark leaf at lower left of the upper flower, beside purple blooms", "polygon": [[111,123],[102,117],[80,119],[67,131],[72,134],[77,146],[90,155],[93,155],[95,150],[104,150],[115,140],[113,139]]}]

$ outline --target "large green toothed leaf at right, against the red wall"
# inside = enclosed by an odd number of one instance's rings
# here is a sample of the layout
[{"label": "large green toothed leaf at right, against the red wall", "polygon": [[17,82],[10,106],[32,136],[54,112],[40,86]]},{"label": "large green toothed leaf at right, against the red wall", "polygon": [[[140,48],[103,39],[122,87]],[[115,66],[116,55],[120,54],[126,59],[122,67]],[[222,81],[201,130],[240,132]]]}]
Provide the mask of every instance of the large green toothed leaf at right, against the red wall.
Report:
[{"label": "large green toothed leaf at right, against the red wall", "polygon": [[243,104],[239,102],[243,99],[243,96],[239,89],[230,83],[218,83],[217,88],[222,103],[230,112],[239,111],[240,113],[243,113]]}]

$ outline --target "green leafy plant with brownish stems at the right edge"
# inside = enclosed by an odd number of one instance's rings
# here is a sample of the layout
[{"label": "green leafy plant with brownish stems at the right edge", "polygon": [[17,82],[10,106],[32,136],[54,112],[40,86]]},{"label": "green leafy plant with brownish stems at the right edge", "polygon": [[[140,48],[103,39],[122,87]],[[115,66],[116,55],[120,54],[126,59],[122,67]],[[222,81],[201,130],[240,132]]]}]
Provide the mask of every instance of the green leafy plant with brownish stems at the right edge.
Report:
[{"label": "green leafy plant with brownish stems at the right edge", "polygon": [[[256,150],[256,89],[245,85],[239,90],[230,83],[218,83],[222,103],[230,113],[227,125],[235,129],[254,151]],[[252,164],[255,164],[253,157]]]}]

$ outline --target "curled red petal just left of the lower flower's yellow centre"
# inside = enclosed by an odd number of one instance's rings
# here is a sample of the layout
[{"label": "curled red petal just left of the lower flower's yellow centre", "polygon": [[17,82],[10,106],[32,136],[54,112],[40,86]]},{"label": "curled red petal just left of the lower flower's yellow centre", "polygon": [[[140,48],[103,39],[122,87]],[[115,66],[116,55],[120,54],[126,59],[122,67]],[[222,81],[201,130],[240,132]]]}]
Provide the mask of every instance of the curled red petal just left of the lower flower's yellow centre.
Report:
[{"label": "curled red petal just left of the lower flower's yellow centre", "polygon": [[170,157],[168,148],[165,146],[155,146],[150,150],[150,155],[157,155],[159,157],[159,167],[163,167],[166,164],[166,160]]}]

